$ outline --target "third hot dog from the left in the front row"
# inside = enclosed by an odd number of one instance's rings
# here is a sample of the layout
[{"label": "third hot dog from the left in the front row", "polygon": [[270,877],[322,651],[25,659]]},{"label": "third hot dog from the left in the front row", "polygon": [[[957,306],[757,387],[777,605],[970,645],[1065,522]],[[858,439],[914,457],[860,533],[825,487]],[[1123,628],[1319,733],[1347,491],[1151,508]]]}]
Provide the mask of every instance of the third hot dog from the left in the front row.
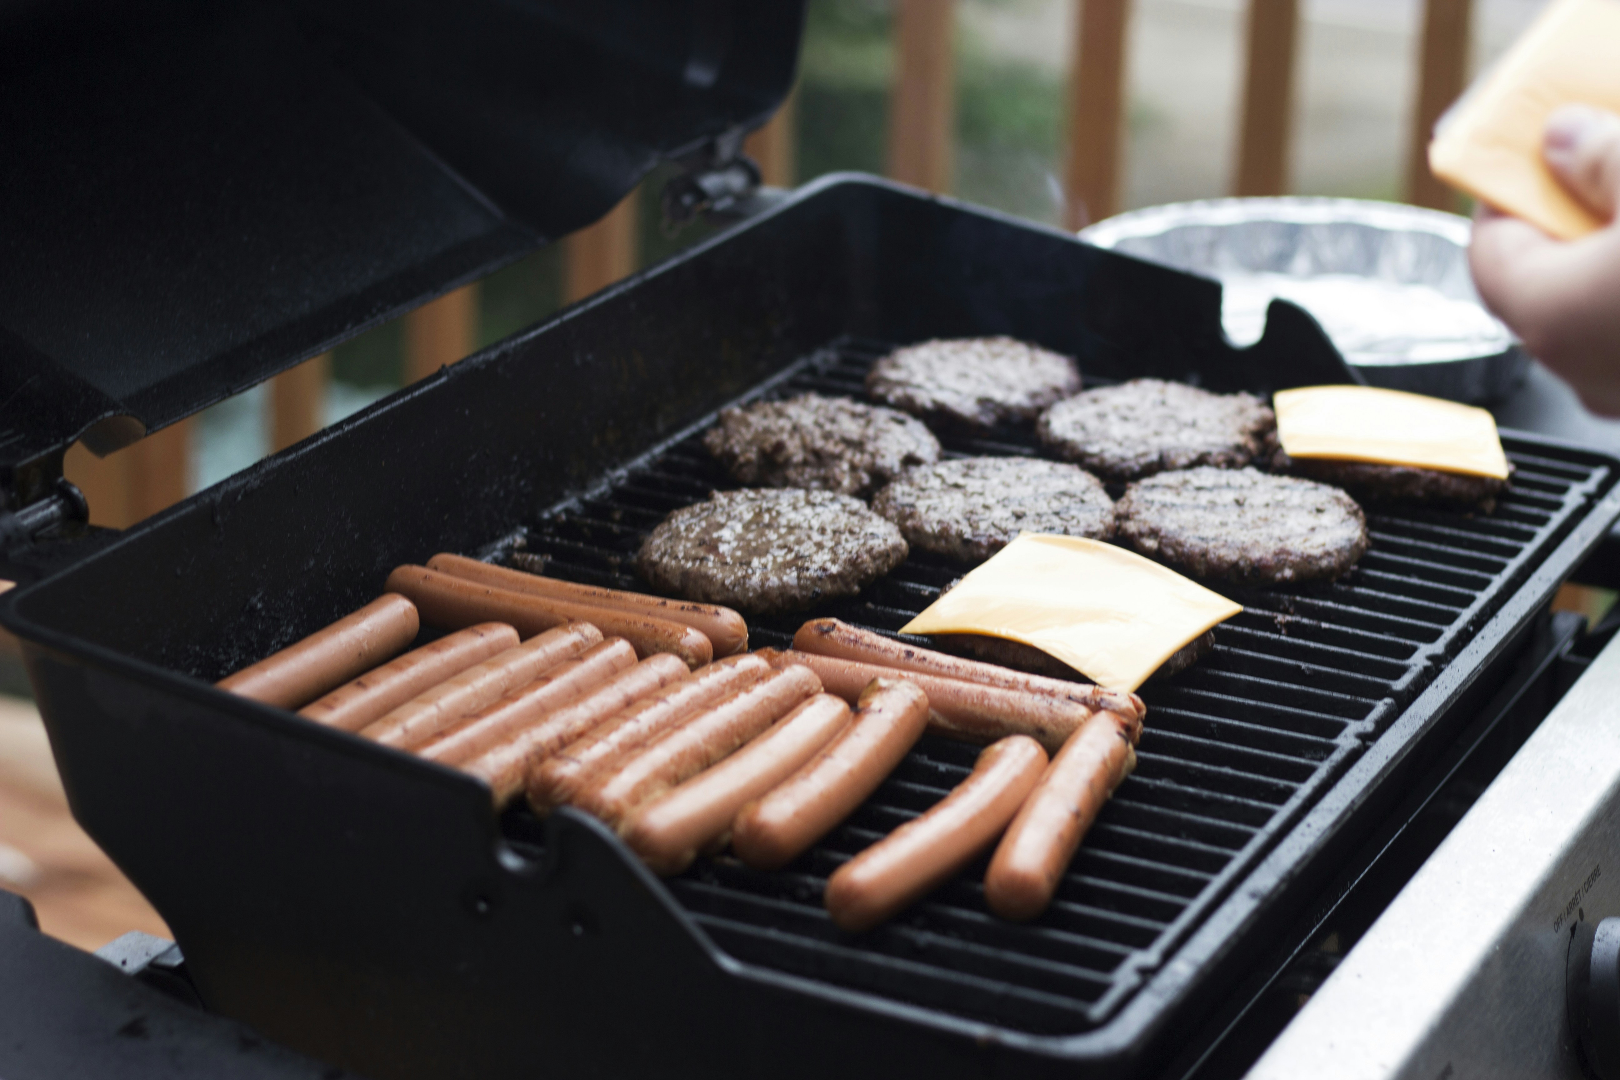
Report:
[{"label": "third hot dog from the left in the front row", "polygon": [[416,695],[382,719],[360,729],[360,733],[387,746],[413,750],[463,716],[538,678],[546,669],[572,661],[601,640],[601,630],[588,622],[548,630]]}]

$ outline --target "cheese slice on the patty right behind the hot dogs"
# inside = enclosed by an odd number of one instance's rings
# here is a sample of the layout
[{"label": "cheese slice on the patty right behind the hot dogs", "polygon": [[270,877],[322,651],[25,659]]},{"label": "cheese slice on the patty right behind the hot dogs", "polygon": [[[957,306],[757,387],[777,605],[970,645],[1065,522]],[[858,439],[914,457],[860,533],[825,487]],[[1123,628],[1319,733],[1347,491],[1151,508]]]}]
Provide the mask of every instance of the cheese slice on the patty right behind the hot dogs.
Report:
[{"label": "cheese slice on the patty right behind the hot dogs", "polygon": [[1241,610],[1123,547],[1022,533],[901,633],[1022,641],[1098,687],[1136,690],[1176,649]]}]

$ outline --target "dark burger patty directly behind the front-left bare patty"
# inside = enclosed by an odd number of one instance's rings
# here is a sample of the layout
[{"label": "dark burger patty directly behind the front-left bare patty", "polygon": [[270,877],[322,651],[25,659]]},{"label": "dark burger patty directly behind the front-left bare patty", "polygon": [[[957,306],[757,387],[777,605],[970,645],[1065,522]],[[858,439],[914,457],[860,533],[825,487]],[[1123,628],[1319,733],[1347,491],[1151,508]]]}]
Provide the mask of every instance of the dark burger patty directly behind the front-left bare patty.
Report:
[{"label": "dark burger patty directly behind the front-left bare patty", "polygon": [[740,484],[862,497],[940,460],[940,440],[922,421],[820,393],[723,410],[703,445]]}]

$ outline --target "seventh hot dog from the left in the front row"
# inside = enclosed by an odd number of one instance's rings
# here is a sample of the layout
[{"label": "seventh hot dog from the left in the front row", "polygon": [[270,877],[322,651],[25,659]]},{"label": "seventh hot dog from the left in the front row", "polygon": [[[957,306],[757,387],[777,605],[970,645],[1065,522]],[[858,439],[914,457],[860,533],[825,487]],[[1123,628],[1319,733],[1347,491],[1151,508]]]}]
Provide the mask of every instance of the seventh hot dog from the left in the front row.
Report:
[{"label": "seventh hot dog from the left in the front row", "polygon": [[617,827],[627,813],[723,761],[816,693],[821,683],[807,667],[773,672],[604,771],[572,805]]}]

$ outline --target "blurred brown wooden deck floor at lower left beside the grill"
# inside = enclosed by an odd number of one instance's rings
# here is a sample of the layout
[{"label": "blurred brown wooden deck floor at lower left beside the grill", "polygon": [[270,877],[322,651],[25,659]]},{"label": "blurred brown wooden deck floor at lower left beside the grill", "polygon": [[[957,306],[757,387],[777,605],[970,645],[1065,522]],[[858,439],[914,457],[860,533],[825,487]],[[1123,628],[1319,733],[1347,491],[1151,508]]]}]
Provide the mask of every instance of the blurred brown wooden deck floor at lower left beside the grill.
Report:
[{"label": "blurred brown wooden deck floor at lower left beside the grill", "polygon": [[81,949],[131,929],[172,936],[73,821],[39,712],[10,696],[0,696],[0,889],[26,895],[40,929]]}]

